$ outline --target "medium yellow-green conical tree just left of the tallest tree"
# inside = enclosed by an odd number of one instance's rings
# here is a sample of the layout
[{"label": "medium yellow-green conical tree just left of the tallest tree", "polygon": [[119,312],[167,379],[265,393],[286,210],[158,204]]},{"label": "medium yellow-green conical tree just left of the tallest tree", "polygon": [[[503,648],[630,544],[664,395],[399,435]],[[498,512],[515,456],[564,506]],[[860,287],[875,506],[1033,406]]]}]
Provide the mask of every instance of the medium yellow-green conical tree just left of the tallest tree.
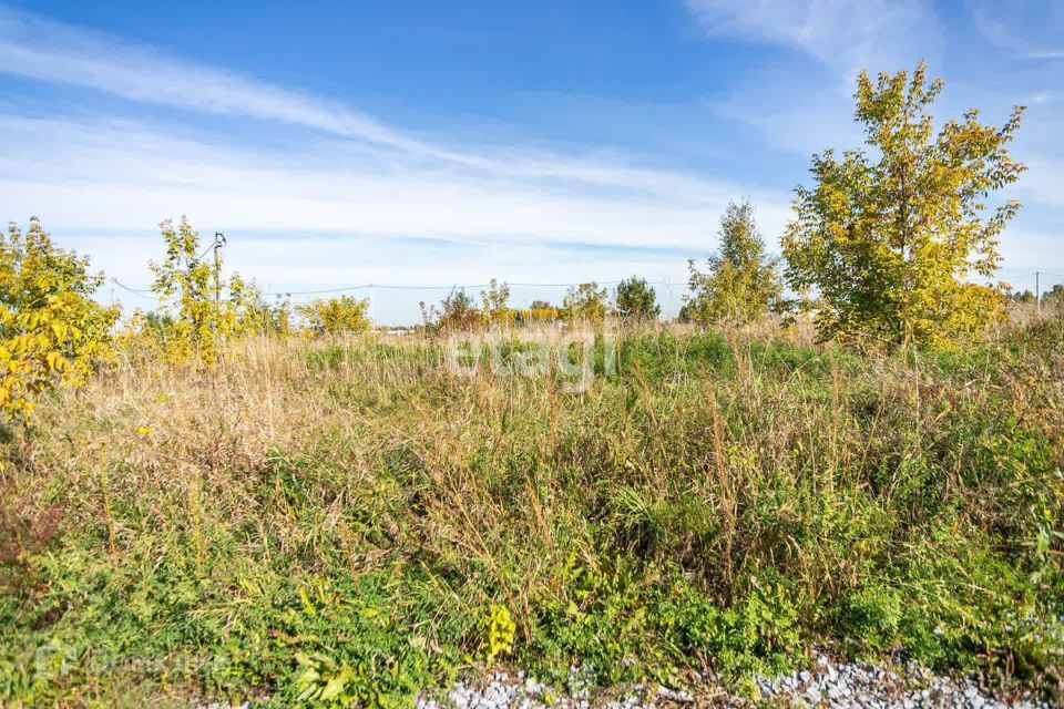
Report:
[{"label": "medium yellow-green conical tree just left of the tallest tree", "polygon": [[779,260],[765,253],[765,240],[748,199],[728,203],[720,217],[720,251],[702,273],[687,263],[692,294],[684,297],[684,316],[695,322],[746,325],[781,305]]}]

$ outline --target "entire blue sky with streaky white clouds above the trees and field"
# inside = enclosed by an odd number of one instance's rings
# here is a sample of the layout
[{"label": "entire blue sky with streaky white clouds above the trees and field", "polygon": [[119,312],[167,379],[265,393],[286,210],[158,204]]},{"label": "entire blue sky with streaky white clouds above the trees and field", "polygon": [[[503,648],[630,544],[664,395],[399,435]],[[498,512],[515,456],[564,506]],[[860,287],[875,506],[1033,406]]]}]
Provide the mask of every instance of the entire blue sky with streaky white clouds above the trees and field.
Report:
[{"label": "entire blue sky with streaky white clouds above the trees and field", "polygon": [[857,71],[920,58],[939,115],[1029,106],[1004,276],[1064,274],[1061,2],[0,2],[0,219],[135,287],[187,214],[270,290],[638,274],[669,310],[727,201],[775,248]]}]

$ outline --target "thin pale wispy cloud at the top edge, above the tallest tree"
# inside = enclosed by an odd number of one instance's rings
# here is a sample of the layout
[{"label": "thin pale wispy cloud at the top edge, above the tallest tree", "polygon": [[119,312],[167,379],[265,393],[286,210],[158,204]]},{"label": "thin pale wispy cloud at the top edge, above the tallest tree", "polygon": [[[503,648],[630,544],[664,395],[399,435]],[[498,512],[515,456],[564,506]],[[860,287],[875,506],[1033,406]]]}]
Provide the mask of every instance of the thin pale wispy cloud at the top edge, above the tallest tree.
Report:
[{"label": "thin pale wispy cloud at the top edge, above the tallest tree", "polygon": [[[853,80],[932,63],[941,30],[928,0],[685,0],[708,39],[789,48],[814,62],[759,61],[715,115],[764,135],[767,145],[810,155],[861,142],[852,121]],[[819,66],[818,66],[819,65]]]}]

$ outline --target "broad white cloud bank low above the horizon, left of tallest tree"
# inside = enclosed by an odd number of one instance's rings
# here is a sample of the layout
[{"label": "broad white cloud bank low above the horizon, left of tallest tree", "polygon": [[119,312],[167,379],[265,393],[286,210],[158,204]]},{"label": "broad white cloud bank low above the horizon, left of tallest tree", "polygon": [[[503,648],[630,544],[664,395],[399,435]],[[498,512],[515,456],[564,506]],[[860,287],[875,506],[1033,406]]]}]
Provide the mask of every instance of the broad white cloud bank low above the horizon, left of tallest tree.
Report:
[{"label": "broad white cloud bank low above the horizon, left of tallest tree", "polygon": [[[188,214],[206,234],[229,234],[227,264],[273,290],[488,277],[581,282],[638,274],[671,279],[675,287],[663,290],[663,305],[675,310],[685,257],[715,247],[726,199],[744,194],[722,187],[713,203],[705,191],[697,199],[574,192],[449,164],[427,167],[361,144],[265,151],[130,121],[0,115],[0,136],[4,216],[42,216],[63,246],[140,287],[150,279],[149,260],[162,256],[155,225]],[[787,196],[755,195],[761,224],[775,234],[787,217]],[[515,288],[513,297],[559,300],[563,292]],[[354,295],[372,295],[380,321],[410,323],[420,300],[446,292]],[[130,308],[153,305],[121,289],[116,296]]]}]

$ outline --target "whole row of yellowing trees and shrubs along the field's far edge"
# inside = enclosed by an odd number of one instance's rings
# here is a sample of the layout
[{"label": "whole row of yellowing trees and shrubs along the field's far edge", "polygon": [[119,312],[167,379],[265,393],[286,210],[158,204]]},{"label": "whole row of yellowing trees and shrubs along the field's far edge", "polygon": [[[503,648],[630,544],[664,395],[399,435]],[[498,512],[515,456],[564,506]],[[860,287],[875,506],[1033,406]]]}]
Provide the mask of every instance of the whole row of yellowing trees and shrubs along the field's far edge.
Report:
[{"label": "whole row of yellowing trees and shrubs along the field's far edge", "polygon": [[[1000,236],[1020,205],[988,206],[1025,169],[1007,150],[1023,107],[1000,126],[970,110],[935,129],[930,109],[942,86],[929,81],[923,62],[911,74],[880,73],[874,81],[862,72],[856,120],[868,151],[812,157],[812,184],[796,189],[781,258],[767,253],[754,205],[730,203],[718,251],[704,268],[688,263],[681,319],[741,327],[770,314],[805,314],[820,339],[889,351],[970,342],[1001,319],[1010,299],[1033,300],[993,280]],[[163,222],[161,230],[166,251],[151,264],[152,290],[165,305],[134,314],[115,336],[117,310],[93,300],[103,278],[89,273],[88,259],[54,247],[37,218],[25,233],[11,226],[0,240],[0,412],[27,414],[34,394],[83,380],[106,360],[115,337],[175,361],[211,366],[223,339],[287,335],[297,329],[294,316],[310,336],[370,327],[367,300],[344,296],[295,310],[287,301],[267,304],[254,282],[238,274],[223,278],[221,260],[203,258],[187,219],[176,227]],[[1045,296],[1046,302],[1061,300],[1061,286]],[[508,284],[492,280],[479,307],[457,290],[421,309],[424,327],[437,331],[661,317],[654,288],[636,276],[612,294],[590,281],[570,288],[557,306],[535,301],[528,308],[511,307]]]}]

